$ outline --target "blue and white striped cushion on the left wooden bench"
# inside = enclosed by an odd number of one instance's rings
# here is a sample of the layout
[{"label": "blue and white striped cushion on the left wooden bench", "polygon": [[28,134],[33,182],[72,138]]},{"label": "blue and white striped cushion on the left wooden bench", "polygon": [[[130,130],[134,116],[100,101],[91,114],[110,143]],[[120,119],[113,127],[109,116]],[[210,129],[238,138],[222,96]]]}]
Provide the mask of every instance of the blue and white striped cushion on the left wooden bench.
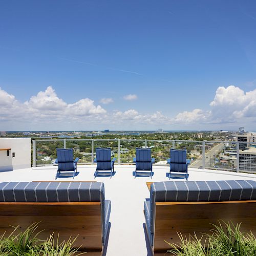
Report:
[{"label": "blue and white striped cushion on the left wooden bench", "polygon": [[101,202],[103,239],[111,211],[102,182],[2,182],[0,202]]}]

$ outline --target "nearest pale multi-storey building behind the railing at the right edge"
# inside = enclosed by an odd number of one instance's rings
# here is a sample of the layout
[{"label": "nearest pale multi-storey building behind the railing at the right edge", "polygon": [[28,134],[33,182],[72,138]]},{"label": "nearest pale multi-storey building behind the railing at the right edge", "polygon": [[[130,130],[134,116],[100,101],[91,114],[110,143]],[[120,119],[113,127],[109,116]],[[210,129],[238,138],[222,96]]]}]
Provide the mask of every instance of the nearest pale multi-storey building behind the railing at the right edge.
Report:
[{"label": "nearest pale multi-storey building behind the railing at the right edge", "polygon": [[250,146],[247,150],[239,151],[239,169],[256,172],[256,147]]}]

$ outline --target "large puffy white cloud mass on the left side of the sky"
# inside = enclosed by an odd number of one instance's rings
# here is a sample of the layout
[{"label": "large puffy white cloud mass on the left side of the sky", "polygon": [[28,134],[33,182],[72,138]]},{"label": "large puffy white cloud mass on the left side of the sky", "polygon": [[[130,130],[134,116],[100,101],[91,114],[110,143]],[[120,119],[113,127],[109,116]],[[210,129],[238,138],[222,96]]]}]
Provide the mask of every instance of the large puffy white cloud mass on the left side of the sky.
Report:
[{"label": "large puffy white cloud mass on the left side of the sky", "polygon": [[36,96],[32,96],[24,103],[0,89],[0,102],[0,120],[10,122],[61,123],[77,121],[83,116],[94,115],[95,117],[106,113],[100,105],[95,105],[94,101],[89,98],[68,104],[57,96],[52,87],[38,92]]}]

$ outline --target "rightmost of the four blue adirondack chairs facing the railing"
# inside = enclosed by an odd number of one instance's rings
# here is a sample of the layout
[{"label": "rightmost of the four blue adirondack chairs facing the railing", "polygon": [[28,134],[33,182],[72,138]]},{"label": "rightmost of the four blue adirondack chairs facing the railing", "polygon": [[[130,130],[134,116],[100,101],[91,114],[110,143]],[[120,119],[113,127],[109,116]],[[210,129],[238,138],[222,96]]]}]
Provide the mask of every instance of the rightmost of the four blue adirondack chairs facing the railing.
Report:
[{"label": "rightmost of the four blue adirondack chairs facing the railing", "polygon": [[186,173],[186,180],[188,178],[187,165],[190,163],[187,158],[187,150],[170,150],[170,158],[167,163],[170,165],[169,179],[171,172],[173,173]]}]

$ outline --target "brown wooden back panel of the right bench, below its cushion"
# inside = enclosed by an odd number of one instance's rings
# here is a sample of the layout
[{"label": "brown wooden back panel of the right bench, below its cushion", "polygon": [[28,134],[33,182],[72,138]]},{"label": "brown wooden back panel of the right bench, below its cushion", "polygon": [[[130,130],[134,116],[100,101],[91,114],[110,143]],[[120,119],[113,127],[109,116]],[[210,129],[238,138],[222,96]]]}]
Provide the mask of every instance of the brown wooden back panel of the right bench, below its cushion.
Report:
[{"label": "brown wooden back panel of the right bench, below its cushion", "polygon": [[252,231],[256,234],[256,200],[157,202],[154,218],[152,252],[154,255],[168,255],[165,253],[170,247],[164,240],[179,244],[177,232],[187,237],[189,234],[194,235],[195,232],[201,238],[202,233],[209,233],[209,229],[213,228],[211,224],[218,225],[218,220],[232,221],[233,224],[242,222],[242,232]]}]

